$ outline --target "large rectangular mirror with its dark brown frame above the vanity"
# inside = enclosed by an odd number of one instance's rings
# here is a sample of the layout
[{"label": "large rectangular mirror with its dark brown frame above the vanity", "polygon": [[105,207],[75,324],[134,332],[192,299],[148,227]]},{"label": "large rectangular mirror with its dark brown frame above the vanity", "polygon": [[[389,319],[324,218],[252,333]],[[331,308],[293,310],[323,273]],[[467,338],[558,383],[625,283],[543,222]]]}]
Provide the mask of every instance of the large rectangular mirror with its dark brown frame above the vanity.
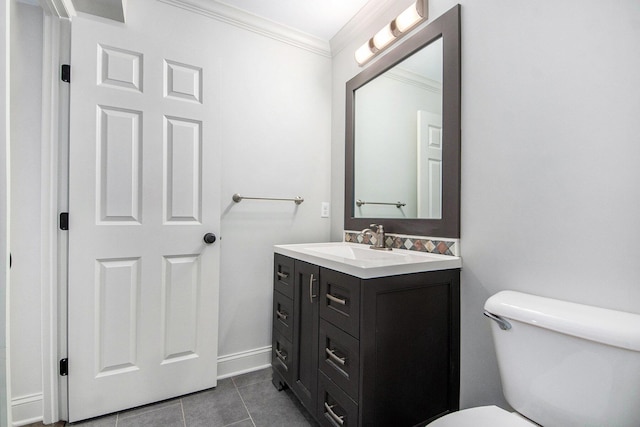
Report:
[{"label": "large rectangular mirror with its dark brown frame above the vanity", "polygon": [[347,82],[345,229],[460,236],[460,6]]}]

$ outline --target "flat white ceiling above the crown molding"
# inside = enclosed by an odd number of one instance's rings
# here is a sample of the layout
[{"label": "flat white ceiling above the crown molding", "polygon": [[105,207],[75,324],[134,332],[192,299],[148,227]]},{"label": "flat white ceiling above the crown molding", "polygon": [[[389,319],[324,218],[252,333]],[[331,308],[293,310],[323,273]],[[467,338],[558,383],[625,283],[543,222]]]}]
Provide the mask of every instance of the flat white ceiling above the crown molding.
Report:
[{"label": "flat white ceiling above the crown molding", "polygon": [[210,0],[243,9],[322,40],[331,38],[368,0]]}]

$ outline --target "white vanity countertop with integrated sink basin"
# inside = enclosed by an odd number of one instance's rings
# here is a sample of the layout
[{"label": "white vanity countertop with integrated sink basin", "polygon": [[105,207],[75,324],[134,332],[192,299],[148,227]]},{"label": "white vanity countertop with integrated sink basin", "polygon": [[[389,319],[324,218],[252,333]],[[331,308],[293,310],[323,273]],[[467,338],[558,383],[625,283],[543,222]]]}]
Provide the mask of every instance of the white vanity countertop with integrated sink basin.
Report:
[{"label": "white vanity countertop with integrated sink basin", "polygon": [[394,249],[381,251],[347,242],[276,245],[276,253],[361,279],[462,267],[456,256]]}]

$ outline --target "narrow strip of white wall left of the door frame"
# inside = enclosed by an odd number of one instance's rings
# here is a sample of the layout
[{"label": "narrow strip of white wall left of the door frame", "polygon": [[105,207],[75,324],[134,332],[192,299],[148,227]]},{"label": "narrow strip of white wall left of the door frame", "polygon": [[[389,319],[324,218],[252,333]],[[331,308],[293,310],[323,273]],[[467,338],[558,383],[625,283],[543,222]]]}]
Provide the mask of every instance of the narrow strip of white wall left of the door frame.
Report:
[{"label": "narrow strip of white wall left of the door frame", "polygon": [[[42,412],[42,10],[11,3],[11,388],[14,420]],[[34,420],[36,421],[36,420]]]}]

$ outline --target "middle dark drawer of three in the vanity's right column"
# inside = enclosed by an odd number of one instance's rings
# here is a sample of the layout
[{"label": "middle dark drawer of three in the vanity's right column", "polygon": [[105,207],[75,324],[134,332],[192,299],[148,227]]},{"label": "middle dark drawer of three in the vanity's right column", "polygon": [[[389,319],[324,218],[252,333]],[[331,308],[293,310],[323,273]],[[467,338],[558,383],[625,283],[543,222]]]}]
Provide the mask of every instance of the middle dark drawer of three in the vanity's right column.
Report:
[{"label": "middle dark drawer of three in the vanity's right column", "polygon": [[318,367],[353,400],[358,400],[360,343],[346,332],[320,320]]}]

